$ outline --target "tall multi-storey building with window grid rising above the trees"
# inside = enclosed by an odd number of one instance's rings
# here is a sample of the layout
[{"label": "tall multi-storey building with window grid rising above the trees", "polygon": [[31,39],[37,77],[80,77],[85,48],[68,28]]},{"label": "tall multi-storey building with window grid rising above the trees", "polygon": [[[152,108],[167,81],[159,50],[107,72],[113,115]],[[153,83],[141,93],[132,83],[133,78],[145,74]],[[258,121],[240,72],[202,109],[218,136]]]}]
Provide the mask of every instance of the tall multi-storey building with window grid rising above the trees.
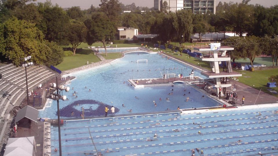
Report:
[{"label": "tall multi-storey building with window grid rising above the trees", "polygon": [[168,3],[169,11],[172,12],[182,9],[190,9],[194,14],[216,12],[216,0],[154,0],[154,9],[161,11],[164,1]]}]

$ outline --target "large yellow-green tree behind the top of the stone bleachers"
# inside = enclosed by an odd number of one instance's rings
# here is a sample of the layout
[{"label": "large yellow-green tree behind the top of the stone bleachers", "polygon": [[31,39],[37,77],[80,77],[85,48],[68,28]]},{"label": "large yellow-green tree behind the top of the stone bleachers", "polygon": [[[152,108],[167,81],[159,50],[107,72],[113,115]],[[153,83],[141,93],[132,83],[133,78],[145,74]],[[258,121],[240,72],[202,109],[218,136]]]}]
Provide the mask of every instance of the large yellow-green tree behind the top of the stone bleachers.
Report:
[{"label": "large yellow-green tree behind the top of the stone bleachers", "polygon": [[[24,63],[23,58],[29,55],[32,56],[31,61],[35,64],[50,63],[48,62],[50,53],[58,47],[56,45],[56,47],[47,48],[49,44],[44,40],[43,33],[30,21],[18,20],[13,17],[3,23],[3,32],[6,46],[2,53],[17,66]],[[52,43],[52,45],[54,44],[56,43]],[[60,53],[62,54],[58,55],[55,52],[52,56],[55,57],[56,63],[61,63],[61,60],[63,60],[63,51],[60,51]]]}]

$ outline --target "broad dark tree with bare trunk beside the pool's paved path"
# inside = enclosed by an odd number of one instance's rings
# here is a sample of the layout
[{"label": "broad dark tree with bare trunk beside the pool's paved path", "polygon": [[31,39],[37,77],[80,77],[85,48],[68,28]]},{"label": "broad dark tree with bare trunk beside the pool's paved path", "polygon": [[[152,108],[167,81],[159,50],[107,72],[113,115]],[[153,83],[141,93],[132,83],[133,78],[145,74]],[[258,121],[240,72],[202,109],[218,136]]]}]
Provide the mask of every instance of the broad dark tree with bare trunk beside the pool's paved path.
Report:
[{"label": "broad dark tree with bare trunk beside the pool's paved path", "polygon": [[85,25],[88,28],[87,43],[91,45],[95,41],[101,41],[107,56],[105,42],[114,37],[114,25],[103,12],[93,14],[91,19],[85,21]]}]

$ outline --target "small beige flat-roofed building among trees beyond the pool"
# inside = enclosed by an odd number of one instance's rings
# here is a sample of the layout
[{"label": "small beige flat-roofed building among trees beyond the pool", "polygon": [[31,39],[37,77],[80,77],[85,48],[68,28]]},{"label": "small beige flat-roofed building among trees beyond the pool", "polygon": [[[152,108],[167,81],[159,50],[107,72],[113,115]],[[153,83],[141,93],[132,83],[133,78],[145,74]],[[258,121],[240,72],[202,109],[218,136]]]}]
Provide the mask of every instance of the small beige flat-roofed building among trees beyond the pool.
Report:
[{"label": "small beige flat-roofed building among trees beyond the pool", "polygon": [[118,40],[133,40],[134,35],[138,35],[138,29],[128,27],[118,28]]}]

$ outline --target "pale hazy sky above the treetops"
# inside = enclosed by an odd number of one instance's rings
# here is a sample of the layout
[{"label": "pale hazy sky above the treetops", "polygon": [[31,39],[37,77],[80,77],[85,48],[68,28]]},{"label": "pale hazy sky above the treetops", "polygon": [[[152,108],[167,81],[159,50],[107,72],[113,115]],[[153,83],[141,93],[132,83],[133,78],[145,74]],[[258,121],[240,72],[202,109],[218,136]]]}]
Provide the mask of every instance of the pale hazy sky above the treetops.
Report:
[{"label": "pale hazy sky above the treetops", "polygon": [[[37,2],[45,2],[46,0],[37,0]],[[119,0],[121,3],[127,5],[131,3],[135,3],[136,6],[142,7],[153,7],[153,0]],[[242,0],[216,0],[216,4],[222,2],[242,2]],[[98,6],[100,4],[100,0],[51,0],[52,4],[57,3],[62,8],[70,8],[72,6],[80,6],[81,9],[87,9],[92,4],[94,6]],[[249,4],[261,4],[265,7],[270,7],[272,5],[278,5],[278,0],[251,0]]]}]

